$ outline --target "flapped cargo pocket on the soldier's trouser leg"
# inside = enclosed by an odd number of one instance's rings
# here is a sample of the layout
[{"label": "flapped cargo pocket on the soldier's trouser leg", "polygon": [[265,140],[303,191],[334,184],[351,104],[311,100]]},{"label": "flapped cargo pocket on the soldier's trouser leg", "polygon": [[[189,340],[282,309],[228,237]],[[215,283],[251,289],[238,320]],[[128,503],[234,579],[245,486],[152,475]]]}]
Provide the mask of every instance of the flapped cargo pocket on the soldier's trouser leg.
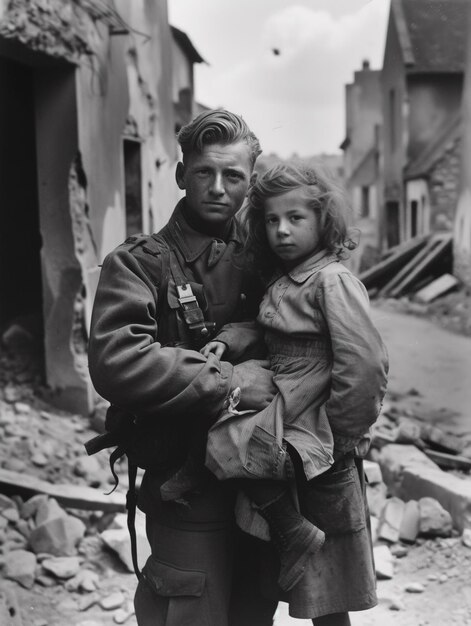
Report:
[{"label": "flapped cargo pocket on the soldier's trouser leg", "polygon": [[184,570],[150,556],[142,574],[159,604],[167,605],[163,626],[211,626],[204,572]]}]

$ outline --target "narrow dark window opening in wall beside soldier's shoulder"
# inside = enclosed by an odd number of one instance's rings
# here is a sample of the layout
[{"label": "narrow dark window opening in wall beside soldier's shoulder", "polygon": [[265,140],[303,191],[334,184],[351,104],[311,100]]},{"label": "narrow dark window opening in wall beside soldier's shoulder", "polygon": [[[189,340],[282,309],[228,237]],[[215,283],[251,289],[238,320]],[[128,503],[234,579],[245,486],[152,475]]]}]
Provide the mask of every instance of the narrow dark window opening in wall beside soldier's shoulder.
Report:
[{"label": "narrow dark window opening in wall beside soldier's shoulder", "polygon": [[126,235],[142,233],[141,144],[123,141],[124,185],[126,198]]}]

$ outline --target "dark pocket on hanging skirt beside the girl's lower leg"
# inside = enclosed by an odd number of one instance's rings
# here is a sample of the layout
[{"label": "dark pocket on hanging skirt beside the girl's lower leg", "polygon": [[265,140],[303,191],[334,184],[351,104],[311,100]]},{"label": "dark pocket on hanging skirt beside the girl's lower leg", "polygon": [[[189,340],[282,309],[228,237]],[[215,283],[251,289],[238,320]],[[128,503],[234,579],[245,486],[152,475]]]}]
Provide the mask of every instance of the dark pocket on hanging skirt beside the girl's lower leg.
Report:
[{"label": "dark pocket on hanging skirt beside the girl's lower leg", "polygon": [[362,530],[366,526],[365,503],[355,466],[335,465],[310,480],[303,494],[303,513],[327,535]]}]

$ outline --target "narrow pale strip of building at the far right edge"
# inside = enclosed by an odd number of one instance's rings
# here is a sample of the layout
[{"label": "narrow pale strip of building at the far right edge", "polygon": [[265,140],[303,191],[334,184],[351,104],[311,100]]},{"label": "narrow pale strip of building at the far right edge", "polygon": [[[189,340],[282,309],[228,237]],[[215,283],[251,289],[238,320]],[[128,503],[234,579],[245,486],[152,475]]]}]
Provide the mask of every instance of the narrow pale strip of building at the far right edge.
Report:
[{"label": "narrow pale strip of building at the far right edge", "polygon": [[463,90],[462,178],[453,233],[453,272],[471,288],[471,3]]}]

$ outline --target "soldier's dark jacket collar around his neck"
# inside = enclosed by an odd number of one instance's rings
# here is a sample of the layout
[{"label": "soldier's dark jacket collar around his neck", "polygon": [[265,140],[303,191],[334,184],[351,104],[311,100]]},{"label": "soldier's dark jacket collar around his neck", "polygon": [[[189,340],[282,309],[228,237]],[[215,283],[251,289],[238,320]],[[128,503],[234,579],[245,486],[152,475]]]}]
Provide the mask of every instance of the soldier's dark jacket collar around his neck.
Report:
[{"label": "soldier's dark jacket collar around his neck", "polygon": [[229,234],[226,238],[226,242],[223,242],[222,239],[206,235],[192,228],[183,216],[184,205],[185,198],[182,198],[170,217],[168,228],[187,263],[195,261],[215,242],[229,243],[230,241],[234,241],[238,245],[242,244],[239,224],[236,219],[232,218]]}]

